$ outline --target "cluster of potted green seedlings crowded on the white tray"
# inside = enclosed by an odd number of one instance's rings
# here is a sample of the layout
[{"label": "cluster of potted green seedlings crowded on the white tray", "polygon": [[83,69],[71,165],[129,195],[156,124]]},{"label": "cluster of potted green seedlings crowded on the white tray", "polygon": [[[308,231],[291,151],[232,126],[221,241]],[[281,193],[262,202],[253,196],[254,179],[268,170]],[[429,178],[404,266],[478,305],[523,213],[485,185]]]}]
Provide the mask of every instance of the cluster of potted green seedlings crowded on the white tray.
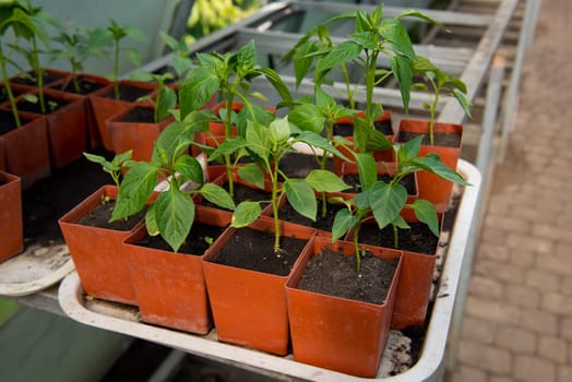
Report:
[{"label": "cluster of potted green seedlings crowded on the white tray", "polygon": [[[27,25],[20,13],[13,22]],[[78,150],[69,159],[85,153],[114,180],[59,220],[84,291],[139,307],[146,323],[198,335],[214,326],[222,342],[279,356],[291,350],[301,362],[374,377],[390,326],[425,322],[442,216],[453,182],[466,186],[454,170],[462,127],[434,121],[443,93],[468,112],[466,89],[415,53],[403,17],[442,26],[414,10],[383,17],[380,5],[305,35],[285,56],[299,81],[313,74],[314,93],[302,98],[258,64],[253,41],[235,52],[196,53],[192,65],[179,67],[188,72],[178,85],[165,81],[175,75],[153,74],[146,106],[103,93],[82,98],[84,119],[99,127],[95,116],[107,114],[100,134],[88,124],[83,141],[100,136],[92,147],[116,153],[107,159],[64,144]],[[334,44],[329,27],[341,19],[354,20],[356,29]],[[381,55],[391,68],[378,68]],[[324,89],[337,71],[364,74],[361,110],[349,81],[342,97],[348,105]],[[372,96],[389,76],[405,110],[412,88],[434,91],[428,121],[392,124]],[[253,100],[257,77],[272,84],[279,104]],[[102,92],[119,92],[114,84],[128,82],[111,81]],[[111,104],[122,111],[110,111]],[[135,107],[151,109],[159,123],[112,124]],[[0,150],[9,151],[5,135]],[[131,141],[118,143],[121,135]],[[444,146],[440,140],[451,136],[456,142]],[[48,152],[63,165],[52,146]]]}]

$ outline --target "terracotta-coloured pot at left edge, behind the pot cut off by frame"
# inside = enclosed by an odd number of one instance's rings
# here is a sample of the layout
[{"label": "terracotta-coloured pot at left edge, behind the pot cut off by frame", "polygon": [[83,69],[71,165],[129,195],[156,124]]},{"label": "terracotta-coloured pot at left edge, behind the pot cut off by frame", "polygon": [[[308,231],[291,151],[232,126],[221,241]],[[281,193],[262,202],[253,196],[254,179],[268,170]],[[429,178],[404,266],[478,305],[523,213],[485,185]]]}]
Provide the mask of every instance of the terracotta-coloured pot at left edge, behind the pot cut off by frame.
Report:
[{"label": "terracotta-coloured pot at left edge, behind the pot cut off by frame", "polygon": [[[13,120],[12,111],[0,108],[2,120]],[[21,178],[22,189],[51,174],[46,117],[19,112],[22,126],[0,135],[4,147],[4,169]]]}]

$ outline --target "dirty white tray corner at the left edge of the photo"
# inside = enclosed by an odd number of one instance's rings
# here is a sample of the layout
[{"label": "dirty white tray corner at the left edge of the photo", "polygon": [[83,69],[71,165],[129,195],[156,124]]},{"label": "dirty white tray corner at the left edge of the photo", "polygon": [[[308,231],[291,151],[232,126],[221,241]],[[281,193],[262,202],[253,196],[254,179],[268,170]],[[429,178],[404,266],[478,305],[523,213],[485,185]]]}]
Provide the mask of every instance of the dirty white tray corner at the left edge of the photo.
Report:
[{"label": "dirty white tray corner at the left edge of the photo", "polygon": [[65,244],[29,244],[0,263],[0,296],[26,296],[43,290],[74,270]]}]

